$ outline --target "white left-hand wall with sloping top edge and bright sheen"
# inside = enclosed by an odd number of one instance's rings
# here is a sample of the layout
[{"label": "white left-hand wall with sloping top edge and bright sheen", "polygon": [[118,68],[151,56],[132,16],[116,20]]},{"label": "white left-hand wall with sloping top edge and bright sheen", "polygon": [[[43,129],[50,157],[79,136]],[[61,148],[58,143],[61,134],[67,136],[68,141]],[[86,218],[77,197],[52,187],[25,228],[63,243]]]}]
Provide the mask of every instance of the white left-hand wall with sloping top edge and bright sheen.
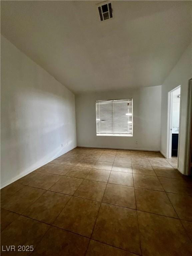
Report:
[{"label": "white left-hand wall with sloping top edge and bright sheen", "polygon": [[1,36],[1,187],[74,147],[74,94]]}]

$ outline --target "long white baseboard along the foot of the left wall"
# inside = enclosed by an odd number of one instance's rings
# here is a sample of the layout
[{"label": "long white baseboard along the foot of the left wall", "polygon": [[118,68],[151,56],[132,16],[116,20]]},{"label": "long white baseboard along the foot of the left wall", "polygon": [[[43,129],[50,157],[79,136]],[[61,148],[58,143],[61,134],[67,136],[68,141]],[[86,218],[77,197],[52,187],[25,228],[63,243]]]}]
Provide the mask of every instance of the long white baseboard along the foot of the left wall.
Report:
[{"label": "long white baseboard along the foot of the left wall", "polygon": [[[70,151],[70,150],[72,150],[72,149],[74,149],[74,148],[76,148],[76,146],[75,146],[75,147],[71,147],[69,150],[62,152],[62,154],[59,154],[57,157],[59,157],[59,156],[65,154],[65,153],[67,153],[68,151]],[[32,168],[32,169],[29,169],[29,170],[26,170],[25,172],[22,172],[21,174],[17,175],[17,176],[14,177],[13,179],[11,179],[11,180],[9,180],[9,181],[3,183],[3,184],[1,185],[1,189],[4,188],[4,187],[6,187],[6,186],[8,186],[8,185],[11,184],[11,183],[13,183],[14,181],[16,181],[16,180],[18,180],[18,179],[24,177],[25,175],[29,174],[30,172],[33,172],[33,171],[37,170],[37,169],[40,168],[41,166],[43,166],[43,165],[45,165],[45,164],[48,164],[49,162],[53,161],[53,160],[54,160],[55,158],[57,158],[57,157],[53,157],[53,158],[49,159],[48,161],[45,161],[45,162],[41,163],[40,165],[35,166],[35,167]]]}]

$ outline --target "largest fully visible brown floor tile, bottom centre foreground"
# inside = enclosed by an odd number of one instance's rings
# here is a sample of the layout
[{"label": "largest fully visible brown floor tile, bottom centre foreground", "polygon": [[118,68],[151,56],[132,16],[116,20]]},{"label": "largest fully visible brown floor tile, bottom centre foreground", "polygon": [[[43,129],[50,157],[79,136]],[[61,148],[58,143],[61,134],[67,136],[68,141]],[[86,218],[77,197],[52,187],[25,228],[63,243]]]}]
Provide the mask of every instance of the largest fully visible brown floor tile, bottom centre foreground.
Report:
[{"label": "largest fully visible brown floor tile, bottom centre foreground", "polygon": [[102,203],[92,238],[140,254],[136,211]]}]

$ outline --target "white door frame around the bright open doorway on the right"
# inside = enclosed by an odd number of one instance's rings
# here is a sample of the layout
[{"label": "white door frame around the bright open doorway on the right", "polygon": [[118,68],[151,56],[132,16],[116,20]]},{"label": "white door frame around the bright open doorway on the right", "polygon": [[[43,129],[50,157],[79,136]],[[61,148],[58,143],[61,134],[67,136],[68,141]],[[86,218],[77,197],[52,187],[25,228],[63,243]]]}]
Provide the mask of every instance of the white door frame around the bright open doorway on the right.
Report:
[{"label": "white door frame around the bright open doorway on the right", "polygon": [[[175,87],[173,90],[168,92],[168,120],[167,120],[167,154],[166,158],[171,158],[171,147],[172,147],[172,113],[173,113],[173,92],[177,89],[181,89],[181,85]],[[181,93],[181,92],[180,92]],[[180,117],[181,117],[181,98],[180,98],[180,109],[179,109],[179,128],[180,128]],[[179,134],[180,137],[180,129]],[[179,140],[178,140],[178,159],[179,159]]]}]

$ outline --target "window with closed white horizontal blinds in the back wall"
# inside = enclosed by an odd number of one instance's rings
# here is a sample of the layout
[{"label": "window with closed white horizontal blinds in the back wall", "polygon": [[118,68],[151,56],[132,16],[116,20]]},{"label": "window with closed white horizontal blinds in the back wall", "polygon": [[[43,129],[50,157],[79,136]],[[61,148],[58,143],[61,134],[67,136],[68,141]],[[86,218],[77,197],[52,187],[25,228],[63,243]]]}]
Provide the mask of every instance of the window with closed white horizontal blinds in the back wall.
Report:
[{"label": "window with closed white horizontal blinds in the back wall", "polygon": [[133,99],[96,101],[97,136],[133,136]]}]

